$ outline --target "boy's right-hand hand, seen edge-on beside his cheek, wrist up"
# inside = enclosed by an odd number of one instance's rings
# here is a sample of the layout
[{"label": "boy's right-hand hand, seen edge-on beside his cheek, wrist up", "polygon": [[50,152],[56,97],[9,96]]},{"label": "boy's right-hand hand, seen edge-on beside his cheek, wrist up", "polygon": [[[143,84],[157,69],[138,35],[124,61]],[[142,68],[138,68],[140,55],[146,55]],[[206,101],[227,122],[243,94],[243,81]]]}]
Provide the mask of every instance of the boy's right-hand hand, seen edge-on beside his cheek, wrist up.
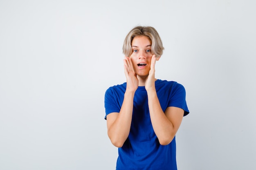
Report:
[{"label": "boy's right-hand hand, seen edge-on beside his cheek, wrist up", "polygon": [[147,92],[155,91],[155,62],[156,62],[156,57],[155,55],[153,55],[151,58],[150,71],[148,74],[148,78],[146,79],[146,82],[145,82],[145,88]]}]

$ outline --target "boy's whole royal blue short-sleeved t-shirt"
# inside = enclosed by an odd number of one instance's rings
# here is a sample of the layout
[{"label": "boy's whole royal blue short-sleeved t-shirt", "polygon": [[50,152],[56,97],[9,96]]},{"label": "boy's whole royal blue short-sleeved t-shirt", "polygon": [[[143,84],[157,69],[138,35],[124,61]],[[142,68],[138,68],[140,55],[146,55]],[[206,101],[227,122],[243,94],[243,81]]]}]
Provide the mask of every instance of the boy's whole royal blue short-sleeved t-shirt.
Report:
[{"label": "boy's whole royal blue short-sleeved t-shirt", "polygon": [[[162,110],[174,106],[189,114],[185,88],[177,82],[157,79],[157,97]],[[108,88],[105,94],[106,116],[120,112],[124,101],[126,83]],[[106,119],[105,116],[105,119]],[[144,86],[139,86],[133,99],[130,133],[121,148],[118,148],[117,170],[177,170],[175,137],[170,144],[162,146],[153,130],[148,96]]]}]

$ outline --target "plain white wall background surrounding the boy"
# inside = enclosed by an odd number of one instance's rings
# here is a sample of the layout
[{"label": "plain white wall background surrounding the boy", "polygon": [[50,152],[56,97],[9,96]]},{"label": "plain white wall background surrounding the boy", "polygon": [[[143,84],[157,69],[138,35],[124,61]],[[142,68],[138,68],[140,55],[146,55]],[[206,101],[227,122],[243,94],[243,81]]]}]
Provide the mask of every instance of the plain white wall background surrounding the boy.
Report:
[{"label": "plain white wall background surrounding the boy", "polygon": [[156,78],[186,88],[179,170],[256,168],[256,1],[0,0],[0,169],[114,170],[104,94],[153,26]]}]

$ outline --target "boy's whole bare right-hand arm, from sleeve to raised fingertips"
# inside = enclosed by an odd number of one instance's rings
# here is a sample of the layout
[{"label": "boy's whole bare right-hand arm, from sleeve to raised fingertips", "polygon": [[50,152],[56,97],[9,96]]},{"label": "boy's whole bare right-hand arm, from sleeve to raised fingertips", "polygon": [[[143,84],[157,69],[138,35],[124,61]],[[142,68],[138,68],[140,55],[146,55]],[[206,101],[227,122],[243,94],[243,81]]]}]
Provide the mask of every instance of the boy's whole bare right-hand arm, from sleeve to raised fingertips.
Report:
[{"label": "boy's whole bare right-hand arm, from sleeve to raised fingertips", "polygon": [[173,140],[177,130],[180,127],[184,110],[177,107],[168,107],[165,112],[163,112],[155,90],[156,60],[155,55],[153,55],[145,88],[148,94],[150,119],[155,134],[161,145],[168,145]]}]

